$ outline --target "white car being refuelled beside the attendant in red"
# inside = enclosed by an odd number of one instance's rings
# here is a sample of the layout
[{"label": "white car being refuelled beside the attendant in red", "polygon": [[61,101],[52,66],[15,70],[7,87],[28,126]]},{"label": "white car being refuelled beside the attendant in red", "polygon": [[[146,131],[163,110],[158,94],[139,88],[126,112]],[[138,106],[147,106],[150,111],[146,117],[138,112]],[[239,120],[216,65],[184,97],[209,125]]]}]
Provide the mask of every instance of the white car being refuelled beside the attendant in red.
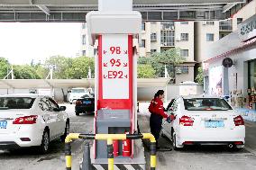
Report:
[{"label": "white car being refuelled beside the attendant in red", "polygon": [[163,123],[162,134],[172,140],[174,149],[185,145],[244,147],[242,116],[223,98],[180,96],[174,100],[169,112],[177,117],[171,123]]}]

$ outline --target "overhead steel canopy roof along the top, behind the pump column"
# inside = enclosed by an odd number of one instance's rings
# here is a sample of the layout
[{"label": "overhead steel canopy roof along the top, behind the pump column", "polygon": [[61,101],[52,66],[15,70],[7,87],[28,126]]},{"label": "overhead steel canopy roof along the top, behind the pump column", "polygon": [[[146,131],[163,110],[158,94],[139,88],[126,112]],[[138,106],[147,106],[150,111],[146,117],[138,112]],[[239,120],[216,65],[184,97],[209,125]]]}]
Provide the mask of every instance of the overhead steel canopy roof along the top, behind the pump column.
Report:
[{"label": "overhead steel canopy roof along the top, behind the pump column", "polygon": [[[133,0],[143,21],[222,20],[244,0]],[[0,22],[85,22],[97,0],[0,0]]]}]

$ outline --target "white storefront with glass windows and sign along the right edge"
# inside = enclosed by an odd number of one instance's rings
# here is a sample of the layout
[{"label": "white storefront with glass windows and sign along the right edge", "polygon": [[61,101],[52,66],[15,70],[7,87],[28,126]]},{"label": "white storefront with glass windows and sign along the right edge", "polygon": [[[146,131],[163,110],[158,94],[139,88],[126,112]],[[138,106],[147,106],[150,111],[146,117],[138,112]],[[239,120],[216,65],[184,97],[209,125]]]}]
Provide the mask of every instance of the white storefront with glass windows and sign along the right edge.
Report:
[{"label": "white storefront with glass windows and sign along the right edge", "polygon": [[246,120],[256,121],[256,14],[213,43],[206,56],[206,94],[228,96]]}]

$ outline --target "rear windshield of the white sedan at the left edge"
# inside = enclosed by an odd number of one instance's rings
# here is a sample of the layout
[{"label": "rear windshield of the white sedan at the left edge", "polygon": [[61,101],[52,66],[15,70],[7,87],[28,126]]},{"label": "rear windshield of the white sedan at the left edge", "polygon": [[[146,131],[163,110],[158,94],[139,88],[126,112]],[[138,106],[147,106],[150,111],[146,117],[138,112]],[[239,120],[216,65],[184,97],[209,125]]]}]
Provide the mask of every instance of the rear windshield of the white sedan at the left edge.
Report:
[{"label": "rear windshield of the white sedan at the left edge", "polygon": [[0,97],[0,109],[30,109],[34,100],[30,97]]}]

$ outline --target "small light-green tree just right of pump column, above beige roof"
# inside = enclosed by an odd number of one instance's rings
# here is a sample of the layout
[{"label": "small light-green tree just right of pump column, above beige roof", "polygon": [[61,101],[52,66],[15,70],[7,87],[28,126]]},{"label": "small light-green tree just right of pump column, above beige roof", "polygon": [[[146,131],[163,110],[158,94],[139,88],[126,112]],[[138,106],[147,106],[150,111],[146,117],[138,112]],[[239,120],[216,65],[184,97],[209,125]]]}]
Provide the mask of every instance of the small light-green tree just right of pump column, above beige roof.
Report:
[{"label": "small light-green tree just right of pump column, above beige roof", "polygon": [[155,76],[156,71],[151,67],[151,65],[138,65],[138,78],[153,78]]}]

